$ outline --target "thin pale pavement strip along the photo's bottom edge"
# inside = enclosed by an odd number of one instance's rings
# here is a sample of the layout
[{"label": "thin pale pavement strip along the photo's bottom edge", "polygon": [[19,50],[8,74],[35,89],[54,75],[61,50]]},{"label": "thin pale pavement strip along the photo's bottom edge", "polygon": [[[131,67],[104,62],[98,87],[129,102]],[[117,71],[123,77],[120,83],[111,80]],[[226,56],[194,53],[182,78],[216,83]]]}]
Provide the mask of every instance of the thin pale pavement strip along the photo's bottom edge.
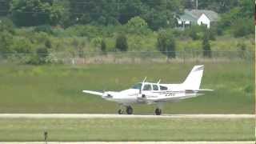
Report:
[{"label": "thin pale pavement strip along the photo's bottom edge", "polygon": [[[47,142],[47,144],[254,144],[252,141],[243,142]],[[46,144],[46,142],[0,142],[0,144]]]}]

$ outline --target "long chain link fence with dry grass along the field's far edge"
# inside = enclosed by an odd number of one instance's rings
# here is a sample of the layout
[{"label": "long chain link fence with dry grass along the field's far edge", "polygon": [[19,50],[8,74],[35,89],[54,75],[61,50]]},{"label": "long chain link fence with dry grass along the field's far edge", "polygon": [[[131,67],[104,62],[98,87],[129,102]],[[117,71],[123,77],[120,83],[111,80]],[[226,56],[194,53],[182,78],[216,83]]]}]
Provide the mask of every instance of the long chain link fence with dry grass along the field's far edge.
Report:
[{"label": "long chain link fence with dry grass along the field's far edge", "polygon": [[[170,54],[171,53],[171,54]],[[254,62],[254,51],[175,51],[175,52],[51,52],[49,54],[5,53],[0,62],[15,63],[62,63],[72,65],[102,63],[151,63],[151,62]]]}]

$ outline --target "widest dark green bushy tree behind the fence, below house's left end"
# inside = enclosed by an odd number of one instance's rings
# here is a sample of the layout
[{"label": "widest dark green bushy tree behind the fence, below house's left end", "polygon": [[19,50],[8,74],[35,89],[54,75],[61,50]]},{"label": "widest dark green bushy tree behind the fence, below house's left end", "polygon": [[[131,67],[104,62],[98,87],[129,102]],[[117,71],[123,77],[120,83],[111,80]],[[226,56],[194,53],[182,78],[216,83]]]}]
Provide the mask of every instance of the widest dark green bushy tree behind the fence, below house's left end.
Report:
[{"label": "widest dark green bushy tree behind the fence, below house's left end", "polygon": [[176,42],[174,35],[170,29],[160,30],[158,34],[157,48],[162,54],[166,54],[167,58],[175,58]]}]

